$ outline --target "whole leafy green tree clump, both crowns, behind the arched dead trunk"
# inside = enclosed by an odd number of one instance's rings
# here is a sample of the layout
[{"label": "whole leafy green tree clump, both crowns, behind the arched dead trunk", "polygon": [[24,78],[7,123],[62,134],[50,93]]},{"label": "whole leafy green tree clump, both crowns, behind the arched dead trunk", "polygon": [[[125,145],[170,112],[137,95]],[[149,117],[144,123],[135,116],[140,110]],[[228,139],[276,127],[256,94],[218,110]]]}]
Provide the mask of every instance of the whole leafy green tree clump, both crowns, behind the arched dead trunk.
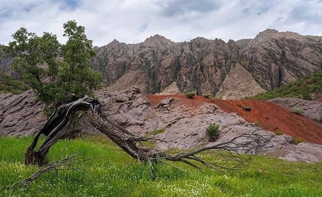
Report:
[{"label": "whole leafy green tree clump, both crowns, behind the arched dead trunk", "polygon": [[75,21],[68,21],[63,27],[67,37],[64,45],[54,34],[44,32],[38,36],[20,28],[12,35],[14,41],[4,47],[15,57],[12,69],[21,73],[25,83],[45,103],[47,112],[69,93],[93,96],[93,89],[100,87],[101,73],[93,71],[90,64],[96,53],[85,28]]}]

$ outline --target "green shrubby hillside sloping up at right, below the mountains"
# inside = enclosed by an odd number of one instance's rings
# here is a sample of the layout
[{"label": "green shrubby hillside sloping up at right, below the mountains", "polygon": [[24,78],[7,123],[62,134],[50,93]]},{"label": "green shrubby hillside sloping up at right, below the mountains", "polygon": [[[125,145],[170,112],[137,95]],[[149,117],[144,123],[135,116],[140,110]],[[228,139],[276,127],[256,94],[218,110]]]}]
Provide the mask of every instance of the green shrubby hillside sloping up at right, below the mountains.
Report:
[{"label": "green shrubby hillside sloping up at right, below the mountains", "polygon": [[313,75],[306,76],[272,91],[247,97],[247,99],[270,100],[277,97],[297,97],[311,100],[311,94],[318,92],[322,92],[322,71],[315,72]]}]

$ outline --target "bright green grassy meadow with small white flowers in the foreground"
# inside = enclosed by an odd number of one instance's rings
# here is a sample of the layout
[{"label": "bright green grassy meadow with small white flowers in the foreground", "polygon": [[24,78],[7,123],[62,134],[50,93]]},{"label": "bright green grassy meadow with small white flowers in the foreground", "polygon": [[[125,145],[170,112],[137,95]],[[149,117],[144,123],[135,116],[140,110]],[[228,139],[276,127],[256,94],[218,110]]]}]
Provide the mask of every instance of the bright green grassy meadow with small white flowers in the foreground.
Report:
[{"label": "bright green grassy meadow with small white flowers in the foreground", "polygon": [[[32,137],[0,139],[0,196],[322,196],[322,163],[294,163],[252,156],[247,170],[225,173],[176,164],[186,173],[158,164],[150,178],[149,165],[133,162],[105,137],[61,140],[49,152],[54,160],[78,152],[92,160],[77,166],[79,172],[44,174],[25,188],[8,189],[30,176],[36,166],[24,165],[24,152]],[[199,157],[222,162],[228,154],[207,152]],[[243,155],[242,157],[250,157]]]}]

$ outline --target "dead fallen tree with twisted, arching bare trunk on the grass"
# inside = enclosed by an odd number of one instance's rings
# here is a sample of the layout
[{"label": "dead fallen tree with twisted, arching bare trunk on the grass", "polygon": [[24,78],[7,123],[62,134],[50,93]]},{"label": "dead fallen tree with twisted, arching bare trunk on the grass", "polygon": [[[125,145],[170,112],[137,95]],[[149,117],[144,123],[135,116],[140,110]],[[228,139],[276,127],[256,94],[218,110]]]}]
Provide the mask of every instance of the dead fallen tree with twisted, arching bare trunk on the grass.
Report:
[{"label": "dead fallen tree with twisted, arching bare trunk on the grass", "polygon": [[[256,129],[252,133],[236,136],[226,142],[219,144],[214,143],[211,146],[204,146],[193,151],[169,154],[165,151],[149,148],[142,144],[142,142],[149,140],[163,140],[140,137],[129,132],[106,117],[102,112],[100,102],[97,99],[86,96],[73,102],[63,104],[53,112],[44,126],[40,129],[31,146],[27,149],[25,156],[26,165],[46,165],[46,156],[50,147],[59,139],[70,137],[71,135],[74,135],[75,132],[79,132],[79,129],[69,129],[74,119],[78,117],[77,113],[79,111],[86,111],[91,124],[96,129],[105,134],[132,158],[142,162],[164,162],[172,165],[171,163],[166,162],[166,160],[168,160],[182,162],[198,169],[201,164],[206,167],[219,170],[226,168],[225,164],[218,165],[216,163],[205,161],[199,158],[197,154],[206,150],[221,149],[228,151],[233,156],[233,153],[239,153],[240,151],[248,152],[252,149],[259,148],[263,146],[263,141],[266,141],[263,136],[259,135],[260,129]],[[46,136],[46,139],[42,145],[35,150],[38,139],[42,134]],[[233,168],[238,169],[240,166],[244,166],[243,162],[239,161],[235,157],[233,158],[237,161],[237,165]]]}]

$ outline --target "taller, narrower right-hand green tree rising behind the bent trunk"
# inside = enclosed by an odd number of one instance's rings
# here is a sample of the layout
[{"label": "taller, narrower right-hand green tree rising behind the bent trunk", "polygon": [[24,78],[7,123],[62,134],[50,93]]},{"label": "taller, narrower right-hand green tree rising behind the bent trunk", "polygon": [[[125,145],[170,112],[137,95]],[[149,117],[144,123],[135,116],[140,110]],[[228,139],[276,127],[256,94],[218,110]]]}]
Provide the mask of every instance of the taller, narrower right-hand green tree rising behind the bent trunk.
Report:
[{"label": "taller, narrower right-hand green tree rising behind the bent trunk", "polygon": [[91,69],[90,58],[96,55],[92,40],[85,34],[85,27],[75,21],[64,23],[64,35],[68,38],[62,46],[64,62],[61,65],[61,87],[64,92],[76,96],[93,96],[93,89],[100,87],[102,74]]}]

